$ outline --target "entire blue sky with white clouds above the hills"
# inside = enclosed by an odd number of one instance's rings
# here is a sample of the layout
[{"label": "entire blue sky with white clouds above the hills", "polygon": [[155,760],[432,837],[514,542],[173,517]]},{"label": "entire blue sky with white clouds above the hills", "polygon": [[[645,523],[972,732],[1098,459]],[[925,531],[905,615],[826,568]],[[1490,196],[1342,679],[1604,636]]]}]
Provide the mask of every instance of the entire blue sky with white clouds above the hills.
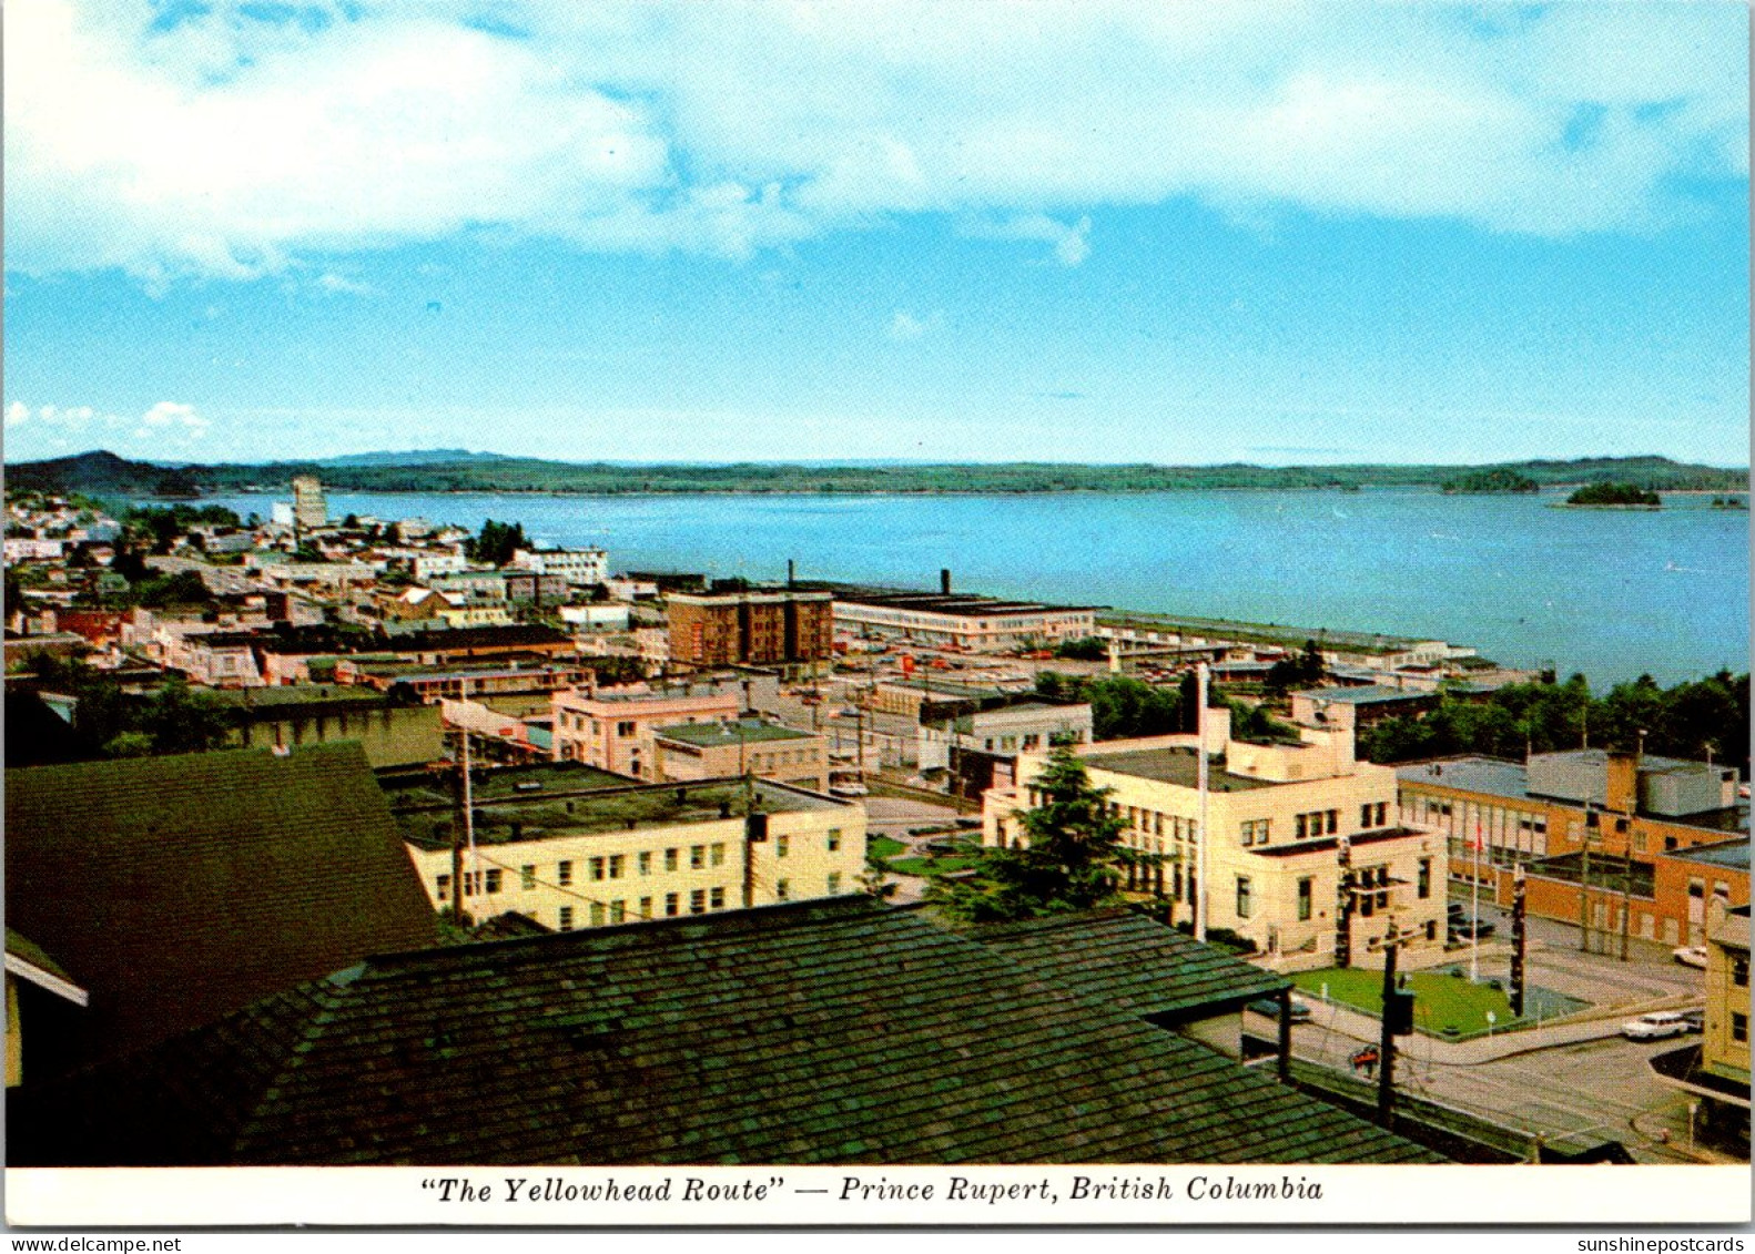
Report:
[{"label": "entire blue sky with white clouds above the hills", "polygon": [[9,0],[5,458],[1741,467],[1741,4]]}]

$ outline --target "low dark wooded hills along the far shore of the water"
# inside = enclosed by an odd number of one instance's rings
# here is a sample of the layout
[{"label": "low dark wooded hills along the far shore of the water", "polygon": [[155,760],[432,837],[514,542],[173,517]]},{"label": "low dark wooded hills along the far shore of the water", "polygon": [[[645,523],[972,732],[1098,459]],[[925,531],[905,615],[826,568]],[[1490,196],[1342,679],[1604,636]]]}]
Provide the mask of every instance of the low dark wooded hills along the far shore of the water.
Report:
[{"label": "low dark wooded hills along the far shore of the water", "polygon": [[[423,461],[421,458],[432,458]],[[1213,488],[1434,488],[1462,479],[1530,481],[1543,488],[1623,482],[1650,491],[1748,491],[1748,470],[1723,470],[1669,458],[1580,458],[1494,467],[1093,467],[1004,465],[612,465],[433,449],[369,452],[328,461],[154,467],[112,452],[7,467],[7,484],[102,495],[286,491],[293,475],[318,475],[326,488],[386,493],[1049,493],[1176,491]],[[1455,491],[1455,488],[1453,488]]]}]

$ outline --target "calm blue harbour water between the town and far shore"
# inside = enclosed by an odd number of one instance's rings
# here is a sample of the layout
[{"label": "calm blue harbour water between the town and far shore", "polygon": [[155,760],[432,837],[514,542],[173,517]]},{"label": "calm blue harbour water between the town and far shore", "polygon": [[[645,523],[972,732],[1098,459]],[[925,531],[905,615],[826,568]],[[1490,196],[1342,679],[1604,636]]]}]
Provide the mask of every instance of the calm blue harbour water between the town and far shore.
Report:
[{"label": "calm blue harbour water between the town and far shore", "polygon": [[[216,503],[267,516],[269,496]],[[523,523],[618,570],[955,588],[1469,644],[1604,688],[1748,670],[1748,514],[1432,491],[1055,496],[333,493],[330,514]]]}]

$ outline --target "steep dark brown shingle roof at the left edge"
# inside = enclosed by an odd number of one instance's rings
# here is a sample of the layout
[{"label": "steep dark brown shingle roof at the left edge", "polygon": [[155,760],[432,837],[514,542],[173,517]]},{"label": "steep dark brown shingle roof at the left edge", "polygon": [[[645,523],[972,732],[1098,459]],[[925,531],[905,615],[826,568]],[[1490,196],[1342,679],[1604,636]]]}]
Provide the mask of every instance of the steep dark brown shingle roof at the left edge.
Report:
[{"label": "steep dark brown shingle roof at the left edge", "polygon": [[5,907],[91,991],[93,1058],[435,938],[353,742],[9,770]]}]

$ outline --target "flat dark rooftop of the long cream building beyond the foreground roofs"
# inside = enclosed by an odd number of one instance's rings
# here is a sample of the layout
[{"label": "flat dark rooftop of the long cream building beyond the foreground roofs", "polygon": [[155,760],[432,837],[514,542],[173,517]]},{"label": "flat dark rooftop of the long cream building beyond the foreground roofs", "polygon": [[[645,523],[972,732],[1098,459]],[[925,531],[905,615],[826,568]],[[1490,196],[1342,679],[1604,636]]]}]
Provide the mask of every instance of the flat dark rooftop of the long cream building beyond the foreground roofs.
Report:
[{"label": "flat dark rooftop of the long cream building beyond the foreground roofs", "polygon": [[[620,780],[618,780],[620,782]],[[755,805],[751,805],[751,798]],[[751,812],[802,814],[851,810],[848,802],[783,787],[769,780],[709,779],[688,784],[639,784],[576,793],[574,796],[476,796],[476,844],[556,840],[677,828],[741,819]],[[418,849],[449,849],[456,814],[449,807],[400,810],[402,837]]]}]

